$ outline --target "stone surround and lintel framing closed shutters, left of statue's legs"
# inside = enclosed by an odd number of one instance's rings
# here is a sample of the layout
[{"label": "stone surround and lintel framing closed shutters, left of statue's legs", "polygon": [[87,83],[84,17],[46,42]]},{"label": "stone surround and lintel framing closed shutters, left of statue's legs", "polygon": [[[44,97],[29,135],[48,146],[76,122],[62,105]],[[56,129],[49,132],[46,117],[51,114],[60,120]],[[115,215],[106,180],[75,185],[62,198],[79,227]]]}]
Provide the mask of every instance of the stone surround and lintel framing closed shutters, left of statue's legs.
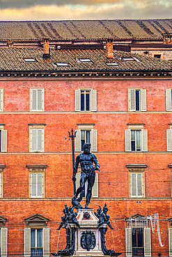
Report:
[{"label": "stone surround and lintel framing closed shutters, left of statue's legs", "polygon": [[31,197],[31,174],[42,174],[42,198],[45,198],[45,169],[47,165],[31,164],[26,165],[26,167],[29,169],[29,198],[33,198]]}]

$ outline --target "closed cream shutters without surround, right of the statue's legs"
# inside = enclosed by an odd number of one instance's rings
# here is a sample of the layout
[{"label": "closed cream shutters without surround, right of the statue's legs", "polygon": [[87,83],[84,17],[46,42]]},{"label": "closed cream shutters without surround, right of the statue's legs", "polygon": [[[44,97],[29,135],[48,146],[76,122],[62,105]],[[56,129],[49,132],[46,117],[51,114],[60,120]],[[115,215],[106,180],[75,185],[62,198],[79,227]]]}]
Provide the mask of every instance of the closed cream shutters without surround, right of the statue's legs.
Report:
[{"label": "closed cream shutters without surround, right of the statue's legs", "polygon": [[143,174],[131,173],[131,197],[143,197]]}]

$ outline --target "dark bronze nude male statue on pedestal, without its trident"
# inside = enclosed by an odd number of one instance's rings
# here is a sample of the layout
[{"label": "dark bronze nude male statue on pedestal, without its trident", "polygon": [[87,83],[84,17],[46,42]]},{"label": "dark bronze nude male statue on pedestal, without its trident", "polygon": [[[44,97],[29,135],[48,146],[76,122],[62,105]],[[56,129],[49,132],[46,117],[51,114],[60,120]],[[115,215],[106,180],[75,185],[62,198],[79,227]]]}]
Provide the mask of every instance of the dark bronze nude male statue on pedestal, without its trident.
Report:
[{"label": "dark bronze nude male statue on pedestal, without its trident", "polygon": [[[81,204],[79,202],[81,201],[83,197],[83,190],[85,188],[85,183],[88,181],[88,188],[87,188],[87,193],[86,193],[86,205],[85,208],[89,209],[88,204],[91,200],[91,193],[92,193],[92,188],[95,183],[95,170],[100,171],[100,165],[97,161],[97,158],[95,154],[92,154],[91,151],[91,144],[84,144],[84,153],[79,154],[76,158],[76,163],[75,167],[73,169],[73,177],[72,181],[75,183],[76,181],[76,174],[77,174],[77,169],[78,165],[80,163],[81,165],[81,179],[80,179],[80,186],[77,188],[77,192],[74,197],[72,197],[72,206],[74,208],[82,208]],[[95,164],[95,167],[93,165]],[[80,194],[80,197],[78,197]],[[78,197],[78,198],[77,198]]]}]

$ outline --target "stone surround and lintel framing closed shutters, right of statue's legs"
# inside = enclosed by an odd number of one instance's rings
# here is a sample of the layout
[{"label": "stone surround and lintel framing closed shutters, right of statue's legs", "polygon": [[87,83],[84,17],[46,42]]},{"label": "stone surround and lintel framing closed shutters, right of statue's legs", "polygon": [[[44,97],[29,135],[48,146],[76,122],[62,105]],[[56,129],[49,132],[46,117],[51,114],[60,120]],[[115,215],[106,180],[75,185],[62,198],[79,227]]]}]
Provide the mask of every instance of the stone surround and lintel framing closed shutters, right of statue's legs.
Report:
[{"label": "stone surround and lintel framing closed shutters, right of statue's legs", "polygon": [[129,181],[129,197],[131,196],[131,173],[141,173],[143,177],[143,197],[132,197],[132,199],[144,198],[145,197],[145,168],[146,164],[127,164],[125,165],[128,169],[128,181]]}]

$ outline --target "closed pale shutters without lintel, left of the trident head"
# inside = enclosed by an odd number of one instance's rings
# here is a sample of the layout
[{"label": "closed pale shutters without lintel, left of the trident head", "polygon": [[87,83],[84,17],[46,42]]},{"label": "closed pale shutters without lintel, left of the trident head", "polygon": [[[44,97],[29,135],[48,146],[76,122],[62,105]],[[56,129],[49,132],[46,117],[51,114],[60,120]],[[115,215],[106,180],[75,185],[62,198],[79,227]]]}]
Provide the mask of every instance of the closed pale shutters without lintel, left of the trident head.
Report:
[{"label": "closed pale shutters without lintel, left of the trident head", "polygon": [[31,151],[43,151],[44,128],[31,129]]}]

